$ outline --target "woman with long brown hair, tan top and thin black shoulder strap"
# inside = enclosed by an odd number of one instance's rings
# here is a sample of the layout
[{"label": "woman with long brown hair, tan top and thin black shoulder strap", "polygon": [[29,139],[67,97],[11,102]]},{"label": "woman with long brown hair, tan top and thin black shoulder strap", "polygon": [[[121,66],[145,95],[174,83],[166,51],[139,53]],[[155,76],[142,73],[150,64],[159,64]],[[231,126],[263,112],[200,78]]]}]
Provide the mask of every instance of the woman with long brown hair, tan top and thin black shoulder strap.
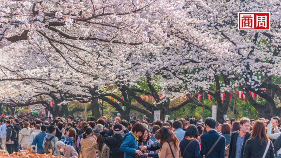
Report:
[{"label": "woman with long brown hair, tan top and thin black shoulder strap", "polygon": [[169,126],[163,126],[160,129],[160,134],[161,148],[158,153],[159,158],[179,158],[179,140]]}]

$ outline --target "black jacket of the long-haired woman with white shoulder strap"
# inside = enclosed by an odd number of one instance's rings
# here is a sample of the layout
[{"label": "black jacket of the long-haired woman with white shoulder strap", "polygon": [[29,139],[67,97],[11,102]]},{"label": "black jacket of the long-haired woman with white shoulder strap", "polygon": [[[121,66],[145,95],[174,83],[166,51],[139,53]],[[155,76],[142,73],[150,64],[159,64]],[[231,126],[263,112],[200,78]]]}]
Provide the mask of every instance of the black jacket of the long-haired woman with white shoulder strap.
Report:
[{"label": "black jacket of the long-haired woman with white shoulder strap", "polygon": [[[263,153],[265,152],[265,141],[263,141],[263,145],[258,140],[258,137],[249,139],[246,141],[245,150],[243,153],[243,158],[259,158],[263,157]],[[270,141],[270,146],[265,155],[265,158],[275,158],[274,155],[274,147],[272,142]]]}]

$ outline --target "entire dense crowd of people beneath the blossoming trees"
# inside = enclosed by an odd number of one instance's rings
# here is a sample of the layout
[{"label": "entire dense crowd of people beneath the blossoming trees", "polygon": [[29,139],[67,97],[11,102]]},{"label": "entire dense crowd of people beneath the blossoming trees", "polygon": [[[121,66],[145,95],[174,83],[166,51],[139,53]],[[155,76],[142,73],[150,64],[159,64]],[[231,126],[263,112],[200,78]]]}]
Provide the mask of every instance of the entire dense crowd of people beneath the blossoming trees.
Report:
[{"label": "entire dense crowd of people beneath the blossoming trees", "polygon": [[6,116],[0,119],[1,148],[10,154],[33,147],[38,154],[66,158],[280,158],[280,118],[180,118],[108,122]]}]

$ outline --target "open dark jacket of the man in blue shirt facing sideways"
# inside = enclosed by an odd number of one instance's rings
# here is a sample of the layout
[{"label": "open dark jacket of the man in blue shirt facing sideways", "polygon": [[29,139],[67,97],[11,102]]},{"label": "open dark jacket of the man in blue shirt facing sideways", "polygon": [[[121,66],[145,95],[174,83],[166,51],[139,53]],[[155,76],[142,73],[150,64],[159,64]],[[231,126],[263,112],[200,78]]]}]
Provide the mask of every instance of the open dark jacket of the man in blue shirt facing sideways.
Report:
[{"label": "open dark jacket of the man in blue shirt facing sideways", "polygon": [[[240,131],[240,130],[238,130],[238,131]],[[228,158],[235,158],[235,156],[236,156],[236,142],[237,142],[237,137],[239,135],[238,131],[232,132],[232,134],[231,134]],[[242,145],[242,151],[241,151],[241,158],[243,158],[245,143],[251,137],[251,135],[252,135],[252,133],[248,132],[244,138],[244,142]]]}]

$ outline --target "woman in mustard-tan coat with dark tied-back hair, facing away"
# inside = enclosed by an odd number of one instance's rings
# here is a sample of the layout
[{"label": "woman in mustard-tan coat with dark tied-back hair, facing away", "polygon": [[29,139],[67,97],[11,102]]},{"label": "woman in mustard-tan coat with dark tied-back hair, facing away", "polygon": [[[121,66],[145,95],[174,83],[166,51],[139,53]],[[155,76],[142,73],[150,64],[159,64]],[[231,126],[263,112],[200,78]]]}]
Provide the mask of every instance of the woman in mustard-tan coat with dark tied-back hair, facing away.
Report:
[{"label": "woman in mustard-tan coat with dark tied-back hair, facing away", "polygon": [[93,135],[92,128],[87,127],[81,139],[81,158],[95,158],[97,153],[94,147],[96,137]]}]

